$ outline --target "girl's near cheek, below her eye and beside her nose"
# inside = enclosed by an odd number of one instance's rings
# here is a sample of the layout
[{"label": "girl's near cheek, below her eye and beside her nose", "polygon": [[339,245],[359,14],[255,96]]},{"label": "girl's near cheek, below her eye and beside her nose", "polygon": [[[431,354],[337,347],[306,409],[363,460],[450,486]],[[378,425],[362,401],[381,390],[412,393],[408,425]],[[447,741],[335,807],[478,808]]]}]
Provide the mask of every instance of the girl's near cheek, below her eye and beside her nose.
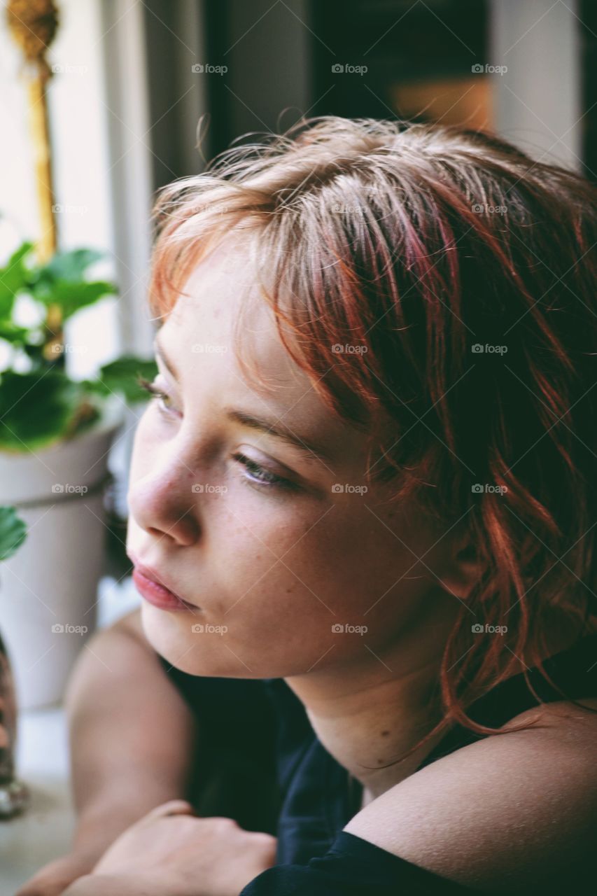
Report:
[{"label": "girl's near cheek, below her eye and beside her nose", "polygon": [[[307,638],[329,634],[341,616],[345,623],[362,624],[368,610],[372,623],[393,619],[395,595],[379,599],[415,558],[391,533],[380,532],[375,520],[372,524],[338,507],[325,513],[322,504],[301,508],[295,501],[290,506],[256,513],[254,499],[238,504],[235,513],[224,516],[221,529],[212,530],[212,544],[222,546],[219,565],[229,600],[228,607],[221,607],[225,615],[242,619],[245,631],[281,625],[284,637],[299,632]],[[406,609],[409,597],[428,582],[409,580],[400,587]]]}]

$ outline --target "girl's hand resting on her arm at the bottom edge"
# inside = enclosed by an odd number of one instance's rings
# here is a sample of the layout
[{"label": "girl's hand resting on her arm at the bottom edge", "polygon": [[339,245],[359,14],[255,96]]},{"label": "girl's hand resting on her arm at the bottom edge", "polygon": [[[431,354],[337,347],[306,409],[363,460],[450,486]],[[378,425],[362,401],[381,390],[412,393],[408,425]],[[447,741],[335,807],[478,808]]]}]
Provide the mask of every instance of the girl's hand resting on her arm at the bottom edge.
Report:
[{"label": "girl's hand resting on her arm at the bottom edge", "polygon": [[184,800],[157,806],[108,847],[92,875],[127,878],[160,896],[238,896],[273,866],[276,839],[231,818],[196,818]]}]

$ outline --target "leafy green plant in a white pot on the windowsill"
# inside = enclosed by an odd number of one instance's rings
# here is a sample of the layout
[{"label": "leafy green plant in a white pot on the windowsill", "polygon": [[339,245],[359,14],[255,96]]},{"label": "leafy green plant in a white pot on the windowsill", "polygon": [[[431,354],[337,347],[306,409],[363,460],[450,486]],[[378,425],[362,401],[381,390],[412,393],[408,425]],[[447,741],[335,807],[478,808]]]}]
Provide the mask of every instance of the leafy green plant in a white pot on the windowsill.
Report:
[{"label": "leafy green plant in a white pot on the windowsill", "polygon": [[[23,243],[0,269],[0,482],[29,527],[27,544],[4,563],[3,628],[23,707],[60,700],[94,628],[106,544],[108,451],[126,402],[153,360],[125,355],[96,377],[75,380],[63,325],[116,293],[93,279],[101,254],[75,249],[36,262]],[[29,317],[23,323],[22,307]]]}]

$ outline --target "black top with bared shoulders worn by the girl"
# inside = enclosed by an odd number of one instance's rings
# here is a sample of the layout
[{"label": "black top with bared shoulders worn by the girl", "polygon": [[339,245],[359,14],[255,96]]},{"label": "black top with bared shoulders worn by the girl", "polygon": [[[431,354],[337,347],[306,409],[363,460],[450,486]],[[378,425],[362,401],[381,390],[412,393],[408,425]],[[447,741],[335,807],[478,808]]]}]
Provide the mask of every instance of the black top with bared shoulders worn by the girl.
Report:
[{"label": "black top with bared shoulders worn by the girl", "polygon": [[[203,738],[203,750],[199,749],[198,779],[208,779],[210,768],[215,772],[222,763],[227,770],[228,797],[224,788],[213,802],[212,793],[212,803],[209,797],[203,806],[195,803],[197,811],[229,815],[249,831],[268,831],[278,838],[275,866],[247,883],[239,896],[465,896],[476,892],[342,831],[359,812],[362,785],[327,753],[302,703],[282,678],[190,676],[164,659],[161,662],[195,711],[199,728],[213,734]],[[567,697],[597,697],[597,634],[587,635],[543,665]],[[528,676],[544,702],[566,699],[537,669]],[[469,715],[497,728],[537,705],[520,674],[474,702]],[[419,769],[481,737],[454,726]],[[273,770],[274,793],[268,788],[268,774],[271,779]],[[574,892],[584,891],[579,884]]]}]

